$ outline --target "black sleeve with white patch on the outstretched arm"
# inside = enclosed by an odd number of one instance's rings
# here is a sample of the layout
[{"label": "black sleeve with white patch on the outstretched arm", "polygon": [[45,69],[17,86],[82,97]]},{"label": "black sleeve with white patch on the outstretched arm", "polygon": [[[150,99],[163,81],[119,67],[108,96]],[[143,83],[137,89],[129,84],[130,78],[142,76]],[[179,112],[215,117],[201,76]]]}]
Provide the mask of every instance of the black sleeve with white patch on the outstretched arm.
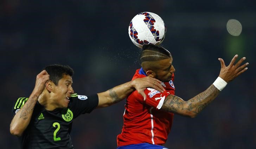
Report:
[{"label": "black sleeve with white patch on the outstretched arm", "polygon": [[98,95],[84,96],[75,95],[70,98],[70,109],[73,111],[74,118],[81,114],[90,113],[98,106]]}]

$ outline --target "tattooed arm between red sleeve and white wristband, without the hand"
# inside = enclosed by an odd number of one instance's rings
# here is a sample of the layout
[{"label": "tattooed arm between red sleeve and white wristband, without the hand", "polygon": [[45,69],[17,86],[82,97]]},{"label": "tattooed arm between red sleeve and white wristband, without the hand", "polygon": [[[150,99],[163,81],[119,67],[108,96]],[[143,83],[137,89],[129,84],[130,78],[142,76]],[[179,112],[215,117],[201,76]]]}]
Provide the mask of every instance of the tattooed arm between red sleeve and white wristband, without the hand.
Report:
[{"label": "tattooed arm between red sleeve and white wristband, without the hand", "polygon": [[180,97],[169,95],[166,97],[161,109],[167,112],[194,117],[213,101],[219,92],[214,85],[211,85],[207,90],[188,101],[183,101]]}]

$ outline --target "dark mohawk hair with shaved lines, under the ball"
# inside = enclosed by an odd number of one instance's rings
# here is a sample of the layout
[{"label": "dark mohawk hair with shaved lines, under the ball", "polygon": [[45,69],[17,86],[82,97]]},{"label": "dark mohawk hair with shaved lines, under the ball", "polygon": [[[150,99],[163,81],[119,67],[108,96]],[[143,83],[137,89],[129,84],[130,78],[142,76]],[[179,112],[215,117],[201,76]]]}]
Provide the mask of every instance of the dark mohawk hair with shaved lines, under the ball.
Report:
[{"label": "dark mohawk hair with shaved lines, under the ball", "polygon": [[171,58],[171,53],[164,47],[153,44],[143,45],[140,54],[140,64],[144,61],[159,61],[167,58]]}]

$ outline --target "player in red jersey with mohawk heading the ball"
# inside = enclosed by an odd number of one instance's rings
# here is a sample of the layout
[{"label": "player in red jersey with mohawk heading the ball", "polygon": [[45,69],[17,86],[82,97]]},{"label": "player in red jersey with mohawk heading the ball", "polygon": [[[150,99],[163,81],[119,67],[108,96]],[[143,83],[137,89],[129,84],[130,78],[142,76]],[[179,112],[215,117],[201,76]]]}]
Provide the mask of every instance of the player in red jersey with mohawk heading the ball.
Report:
[{"label": "player in red jersey with mohawk heading the ball", "polygon": [[117,149],[164,149],[167,136],[172,127],[175,114],[196,117],[205,108],[228,82],[247,70],[245,57],[236,64],[236,55],[225,66],[224,60],[219,58],[221,70],[219,77],[204,92],[184,101],[174,96],[175,87],[174,72],[171,53],[165,48],[153,44],[144,45],[140,56],[141,69],[136,70],[132,79],[153,77],[162,81],[164,93],[147,88],[144,90],[146,100],[137,92],[133,91],[127,98],[121,134],[117,136]]}]

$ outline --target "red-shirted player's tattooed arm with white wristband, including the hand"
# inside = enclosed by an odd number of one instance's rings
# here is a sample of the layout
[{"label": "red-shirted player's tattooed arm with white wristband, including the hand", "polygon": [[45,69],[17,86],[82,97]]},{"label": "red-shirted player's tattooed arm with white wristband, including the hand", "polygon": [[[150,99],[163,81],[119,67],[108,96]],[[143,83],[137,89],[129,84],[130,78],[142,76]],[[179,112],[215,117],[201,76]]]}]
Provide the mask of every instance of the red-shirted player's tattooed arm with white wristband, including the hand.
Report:
[{"label": "red-shirted player's tattooed arm with white wristband, including the hand", "polygon": [[196,117],[199,112],[201,112],[211,101],[213,101],[213,99],[218,96],[219,92],[226,86],[227,83],[248,69],[246,66],[249,63],[245,63],[240,66],[245,60],[245,57],[234,64],[237,57],[238,55],[235,55],[228,66],[225,66],[224,60],[219,58],[221,64],[219,77],[204,92],[199,93],[197,96],[188,101],[183,101],[183,99],[174,95],[168,95],[165,98],[161,110],[177,113],[183,116]]}]

